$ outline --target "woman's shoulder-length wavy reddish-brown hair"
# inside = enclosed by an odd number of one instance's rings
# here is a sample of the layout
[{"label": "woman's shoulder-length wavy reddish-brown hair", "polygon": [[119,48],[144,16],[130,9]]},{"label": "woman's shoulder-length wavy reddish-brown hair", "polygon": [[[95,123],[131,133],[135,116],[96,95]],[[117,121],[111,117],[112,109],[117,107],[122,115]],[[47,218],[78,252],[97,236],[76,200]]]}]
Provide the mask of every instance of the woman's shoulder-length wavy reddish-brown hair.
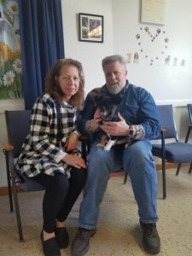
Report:
[{"label": "woman's shoulder-length wavy reddish-brown hair", "polygon": [[79,90],[69,101],[73,107],[79,108],[84,102],[84,71],[79,61],[75,61],[73,59],[61,59],[56,61],[55,64],[50,67],[49,73],[45,78],[45,92],[49,93],[56,102],[62,101],[64,93],[55,77],[59,77],[61,75],[61,69],[65,66],[77,67],[79,71]]}]

